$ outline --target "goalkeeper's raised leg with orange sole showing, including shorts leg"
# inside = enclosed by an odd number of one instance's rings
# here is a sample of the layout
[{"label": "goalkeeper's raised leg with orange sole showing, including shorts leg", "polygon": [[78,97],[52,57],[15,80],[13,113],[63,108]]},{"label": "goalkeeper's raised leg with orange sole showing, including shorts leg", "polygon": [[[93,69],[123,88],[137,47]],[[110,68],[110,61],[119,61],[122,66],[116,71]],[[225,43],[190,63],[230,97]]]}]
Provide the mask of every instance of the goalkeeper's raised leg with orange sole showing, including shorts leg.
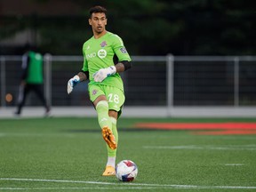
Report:
[{"label": "goalkeeper's raised leg with orange sole showing, including shorts leg", "polygon": [[102,137],[107,142],[109,148],[116,148],[116,139],[112,133],[112,124],[108,116],[108,101],[105,92],[99,85],[89,86],[90,100],[97,111],[98,122],[100,124]]}]

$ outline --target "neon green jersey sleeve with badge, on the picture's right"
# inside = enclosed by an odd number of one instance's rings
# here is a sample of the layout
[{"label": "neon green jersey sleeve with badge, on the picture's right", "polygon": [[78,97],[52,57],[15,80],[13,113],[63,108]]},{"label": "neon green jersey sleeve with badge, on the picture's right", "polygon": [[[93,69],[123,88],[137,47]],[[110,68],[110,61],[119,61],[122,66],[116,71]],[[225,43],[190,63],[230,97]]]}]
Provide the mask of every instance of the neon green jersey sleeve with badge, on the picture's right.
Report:
[{"label": "neon green jersey sleeve with badge, on the picture's right", "polygon": [[131,57],[124,47],[123,40],[116,35],[113,42],[113,50],[116,53],[118,61],[122,61],[122,60],[131,61]]}]

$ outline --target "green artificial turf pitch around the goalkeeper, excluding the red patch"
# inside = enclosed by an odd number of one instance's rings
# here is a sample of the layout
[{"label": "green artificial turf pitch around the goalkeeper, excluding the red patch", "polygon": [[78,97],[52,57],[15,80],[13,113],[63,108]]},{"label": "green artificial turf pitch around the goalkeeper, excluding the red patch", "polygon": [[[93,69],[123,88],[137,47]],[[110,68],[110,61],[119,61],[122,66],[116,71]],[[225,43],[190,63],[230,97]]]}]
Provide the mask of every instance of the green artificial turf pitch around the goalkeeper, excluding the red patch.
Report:
[{"label": "green artificial turf pitch around the goalkeeper, excluding the red patch", "polygon": [[256,122],[250,118],[121,118],[116,163],[131,183],[102,177],[107,150],[96,118],[0,120],[0,191],[256,191],[256,134],[196,135],[138,123]]}]

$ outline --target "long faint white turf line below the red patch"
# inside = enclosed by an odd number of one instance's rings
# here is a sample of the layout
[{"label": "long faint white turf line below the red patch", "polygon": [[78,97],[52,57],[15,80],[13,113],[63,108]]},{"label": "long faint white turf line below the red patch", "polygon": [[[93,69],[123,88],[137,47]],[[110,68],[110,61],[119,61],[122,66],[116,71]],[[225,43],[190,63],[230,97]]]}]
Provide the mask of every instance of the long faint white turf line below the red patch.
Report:
[{"label": "long faint white turf line below the red patch", "polygon": [[156,149],[196,149],[196,150],[256,150],[256,146],[248,145],[248,146],[196,146],[196,145],[188,145],[188,146],[143,146],[143,148],[156,148]]}]

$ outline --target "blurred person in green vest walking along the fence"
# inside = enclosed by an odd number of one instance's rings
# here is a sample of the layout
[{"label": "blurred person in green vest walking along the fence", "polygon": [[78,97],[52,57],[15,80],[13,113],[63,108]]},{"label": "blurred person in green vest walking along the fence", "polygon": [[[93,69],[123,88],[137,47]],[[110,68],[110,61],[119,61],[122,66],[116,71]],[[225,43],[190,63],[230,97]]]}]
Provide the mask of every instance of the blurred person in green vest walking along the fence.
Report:
[{"label": "blurred person in green vest walking along the fence", "polygon": [[50,114],[50,107],[44,98],[44,59],[36,47],[25,45],[25,53],[22,56],[22,76],[18,97],[18,108],[15,115],[20,116],[21,109],[25,105],[29,92],[35,92],[45,108],[45,116]]}]

